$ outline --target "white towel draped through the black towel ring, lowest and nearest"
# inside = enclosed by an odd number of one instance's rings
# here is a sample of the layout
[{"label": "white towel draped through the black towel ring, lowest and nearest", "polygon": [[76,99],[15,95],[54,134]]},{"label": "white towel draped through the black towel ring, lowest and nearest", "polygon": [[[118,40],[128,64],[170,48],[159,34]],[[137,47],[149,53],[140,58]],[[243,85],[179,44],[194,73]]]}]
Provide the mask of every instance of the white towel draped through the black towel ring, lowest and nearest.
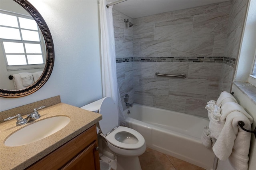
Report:
[{"label": "white towel draped through the black towel ring, lowest and nearest", "polygon": [[238,121],[243,121],[244,128],[251,130],[250,121],[244,114],[238,111],[228,114],[212,150],[220,160],[229,157],[230,164],[235,170],[247,170],[251,133],[242,130]]}]

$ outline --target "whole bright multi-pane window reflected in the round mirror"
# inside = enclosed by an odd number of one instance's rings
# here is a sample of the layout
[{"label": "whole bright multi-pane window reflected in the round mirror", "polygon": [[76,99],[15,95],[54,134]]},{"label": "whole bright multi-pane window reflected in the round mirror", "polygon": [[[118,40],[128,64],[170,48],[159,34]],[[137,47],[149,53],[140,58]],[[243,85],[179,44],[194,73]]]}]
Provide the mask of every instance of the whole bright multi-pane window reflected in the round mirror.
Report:
[{"label": "whole bright multi-pane window reflected in the round mirror", "polygon": [[41,37],[38,25],[31,16],[0,10],[0,41],[7,70],[8,66],[14,65],[44,64]]}]

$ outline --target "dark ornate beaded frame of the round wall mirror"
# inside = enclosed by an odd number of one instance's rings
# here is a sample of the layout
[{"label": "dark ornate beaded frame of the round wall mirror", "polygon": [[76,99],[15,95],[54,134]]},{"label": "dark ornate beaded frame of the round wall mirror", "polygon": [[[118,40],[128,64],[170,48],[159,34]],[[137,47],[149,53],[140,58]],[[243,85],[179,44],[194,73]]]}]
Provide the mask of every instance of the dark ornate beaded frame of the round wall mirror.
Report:
[{"label": "dark ornate beaded frame of the round wall mirror", "polygon": [[31,86],[25,89],[20,89],[20,90],[0,89],[0,97],[9,97],[9,98],[24,97],[40,89],[44,85],[44,83],[46,83],[46,81],[49,79],[52,73],[53,65],[54,65],[54,46],[53,46],[52,36],[43,17],[39,14],[36,8],[34,8],[34,6],[32,6],[32,4],[30,4],[28,1],[26,0],[14,0],[14,1],[20,4],[20,6],[22,6],[25,10],[28,11],[28,13],[31,14],[31,16],[34,18],[34,20],[38,24],[38,27],[42,31],[45,45],[46,45],[46,65],[44,67],[44,71],[41,77]]}]

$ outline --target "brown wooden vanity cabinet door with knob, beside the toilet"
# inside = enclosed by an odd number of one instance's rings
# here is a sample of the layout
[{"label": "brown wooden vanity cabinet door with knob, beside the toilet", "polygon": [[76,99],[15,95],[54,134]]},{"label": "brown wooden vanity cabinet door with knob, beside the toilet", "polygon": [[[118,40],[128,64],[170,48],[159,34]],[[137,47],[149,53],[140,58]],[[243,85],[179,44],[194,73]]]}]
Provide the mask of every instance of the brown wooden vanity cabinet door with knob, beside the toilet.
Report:
[{"label": "brown wooden vanity cabinet door with knob, beside the toilet", "polygon": [[99,156],[96,147],[97,142],[94,142],[64,166],[62,170],[100,170],[98,166],[100,164]]}]

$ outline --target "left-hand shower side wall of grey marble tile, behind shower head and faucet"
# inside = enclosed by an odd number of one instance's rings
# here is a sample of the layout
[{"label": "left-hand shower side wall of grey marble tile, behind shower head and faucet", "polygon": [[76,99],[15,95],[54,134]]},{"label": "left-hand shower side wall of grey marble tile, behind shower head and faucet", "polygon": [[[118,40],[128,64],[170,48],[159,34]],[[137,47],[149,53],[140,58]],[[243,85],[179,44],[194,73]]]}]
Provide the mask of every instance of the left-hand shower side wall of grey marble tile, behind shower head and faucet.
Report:
[{"label": "left-hand shower side wall of grey marble tile, behind shower head and faucet", "polygon": [[116,44],[116,75],[123,108],[125,109],[124,95],[129,95],[129,103],[134,102],[133,87],[133,27],[124,22],[133,19],[113,10],[114,36]]}]

